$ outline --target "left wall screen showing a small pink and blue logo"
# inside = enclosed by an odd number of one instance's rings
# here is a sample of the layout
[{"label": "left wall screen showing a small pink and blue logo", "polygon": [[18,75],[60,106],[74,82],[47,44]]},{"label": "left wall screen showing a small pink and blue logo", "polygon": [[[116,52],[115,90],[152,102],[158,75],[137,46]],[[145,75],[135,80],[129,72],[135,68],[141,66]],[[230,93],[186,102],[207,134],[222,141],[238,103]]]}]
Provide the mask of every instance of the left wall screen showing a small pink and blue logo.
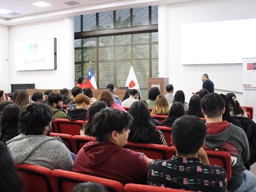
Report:
[{"label": "left wall screen showing a small pink and blue logo", "polygon": [[15,70],[56,69],[56,38],[15,42]]}]

